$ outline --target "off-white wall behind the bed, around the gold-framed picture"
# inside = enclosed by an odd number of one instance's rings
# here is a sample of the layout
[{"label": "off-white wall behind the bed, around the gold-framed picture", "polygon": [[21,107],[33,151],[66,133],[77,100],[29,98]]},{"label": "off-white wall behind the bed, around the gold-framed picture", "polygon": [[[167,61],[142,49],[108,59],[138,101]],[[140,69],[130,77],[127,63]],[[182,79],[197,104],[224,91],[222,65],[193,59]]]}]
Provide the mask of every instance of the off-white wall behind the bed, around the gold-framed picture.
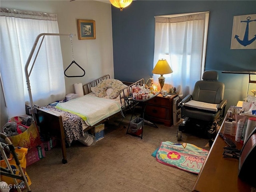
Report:
[{"label": "off-white wall behind the bed, around the gold-framed picture", "polygon": [[[1,0],[0,6],[2,8],[57,14],[59,32],[76,34],[72,39],[74,60],[84,68],[86,75],[78,78],[65,77],[66,93],[74,92],[74,83],[82,82],[85,84],[105,74],[109,74],[110,78],[114,78],[111,4],[88,0],[72,2],[69,0]],[[95,20],[95,40],[78,40],[78,19]],[[65,70],[72,62],[70,38],[68,36],[61,36],[60,43]],[[72,69],[74,70],[70,71]],[[78,70],[78,67],[71,67],[70,70],[68,74],[75,75],[75,70]],[[79,73],[79,75],[81,74],[82,72]],[[2,114],[3,97],[1,96],[0,99],[2,127],[2,122],[7,122],[7,120],[6,114]]]}]

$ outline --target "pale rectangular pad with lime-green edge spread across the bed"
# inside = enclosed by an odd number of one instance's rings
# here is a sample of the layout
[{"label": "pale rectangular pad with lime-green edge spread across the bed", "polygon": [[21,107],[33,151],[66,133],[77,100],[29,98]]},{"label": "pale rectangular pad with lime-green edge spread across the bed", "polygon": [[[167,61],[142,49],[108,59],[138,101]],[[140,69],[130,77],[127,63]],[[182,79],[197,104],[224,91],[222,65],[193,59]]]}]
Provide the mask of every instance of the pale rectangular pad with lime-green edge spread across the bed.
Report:
[{"label": "pale rectangular pad with lime-green edge spread across the bed", "polygon": [[84,95],[68,102],[58,103],[56,108],[80,116],[86,124],[94,124],[119,112],[121,104],[118,101]]}]

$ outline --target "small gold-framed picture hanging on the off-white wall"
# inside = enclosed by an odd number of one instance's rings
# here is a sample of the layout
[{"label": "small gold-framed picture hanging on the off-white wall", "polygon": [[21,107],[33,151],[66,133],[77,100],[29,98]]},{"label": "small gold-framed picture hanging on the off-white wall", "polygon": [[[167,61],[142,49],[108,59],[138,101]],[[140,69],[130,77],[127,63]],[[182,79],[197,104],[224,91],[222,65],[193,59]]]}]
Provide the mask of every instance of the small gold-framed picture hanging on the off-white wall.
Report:
[{"label": "small gold-framed picture hanging on the off-white wall", "polygon": [[95,21],[94,20],[81,20],[78,19],[78,38],[84,39],[96,39],[95,35]]}]

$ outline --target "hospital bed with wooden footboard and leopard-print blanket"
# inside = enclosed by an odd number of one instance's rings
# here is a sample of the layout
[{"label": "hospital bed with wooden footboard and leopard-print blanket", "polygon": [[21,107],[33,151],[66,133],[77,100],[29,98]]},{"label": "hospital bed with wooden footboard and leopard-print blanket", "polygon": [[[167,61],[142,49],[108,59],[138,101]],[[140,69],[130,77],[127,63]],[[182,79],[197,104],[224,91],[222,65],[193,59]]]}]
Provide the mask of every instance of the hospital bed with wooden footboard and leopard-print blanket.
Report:
[{"label": "hospital bed with wooden footboard and leopard-print blanket", "polygon": [[[57,104],[57,106],[42,106],[36,108],[36,122],[41,135],[56,136],[61,141],[62,163],[67,163],[66,144],[84,136],[84,133],[120,114],[124,117],[127,110],[132,109],[133,102],[124,100],[124,97],[132,93],[133,85],[143,85],[144,79],[125,85],[118,92],[116,98],[110,99],[111,88],[107,88],[106,96],[99,98],[93,88],[103,80],[110,79],[109,75],[102,76],[87,84],[84,84],[84,96]],[[80,106],[78,111],[74,106]],[[29,106],[26,106],[27,114]],[[83,110],[85,109],[85,110]],[[82,114],[82,115],[81,115]]]}]

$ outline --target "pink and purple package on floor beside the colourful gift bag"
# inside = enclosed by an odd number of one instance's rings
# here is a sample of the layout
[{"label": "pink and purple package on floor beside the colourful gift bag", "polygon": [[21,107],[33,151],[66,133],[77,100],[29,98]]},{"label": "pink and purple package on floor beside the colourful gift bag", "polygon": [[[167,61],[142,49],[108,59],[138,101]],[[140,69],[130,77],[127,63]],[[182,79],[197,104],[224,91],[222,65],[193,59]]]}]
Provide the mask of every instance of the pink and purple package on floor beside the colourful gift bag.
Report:
[{"label": "pink and purple package on floor beside the colourful gift bag", "polygon": [[45,157],[44,144],[40,144],[32,149],[28,150],[26,154],[26,166],[30,166],[31,164],[39,161],[40,159]]}]

